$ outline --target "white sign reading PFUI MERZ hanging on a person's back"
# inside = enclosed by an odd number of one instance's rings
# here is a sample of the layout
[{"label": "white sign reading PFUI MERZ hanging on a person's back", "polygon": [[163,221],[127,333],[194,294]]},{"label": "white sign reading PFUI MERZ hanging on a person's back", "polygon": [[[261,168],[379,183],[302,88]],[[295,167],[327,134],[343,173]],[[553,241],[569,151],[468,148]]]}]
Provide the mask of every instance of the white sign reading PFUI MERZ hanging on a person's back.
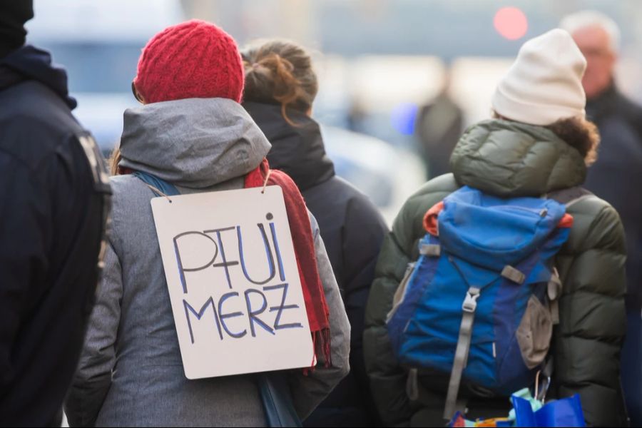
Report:
[{"label": "white sign reading PFUI MERZ hanging on a person's back", "polygon": [[151,200],[185,376],[308,367],[314,350],[282,189]]}]

